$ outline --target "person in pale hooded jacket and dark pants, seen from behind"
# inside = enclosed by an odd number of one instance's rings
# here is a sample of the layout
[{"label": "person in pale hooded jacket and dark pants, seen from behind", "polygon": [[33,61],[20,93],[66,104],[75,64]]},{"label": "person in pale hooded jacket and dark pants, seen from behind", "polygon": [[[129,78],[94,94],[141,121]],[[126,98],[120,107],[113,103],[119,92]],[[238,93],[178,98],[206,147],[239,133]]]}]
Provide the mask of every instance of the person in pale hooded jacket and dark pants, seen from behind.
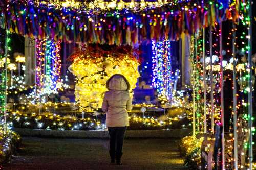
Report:
[{"label": "person in pale hooded jacket and dark pants, seen from behind", "polygon": [[110,135],[111,163],[121,165],[124,134],[129,126],[127,111],[132,110],[132,99],[129,94],[130,84],[120,74],[115,74],[106,82],[106,91],[101,109],[106,112],[106,127]]}]

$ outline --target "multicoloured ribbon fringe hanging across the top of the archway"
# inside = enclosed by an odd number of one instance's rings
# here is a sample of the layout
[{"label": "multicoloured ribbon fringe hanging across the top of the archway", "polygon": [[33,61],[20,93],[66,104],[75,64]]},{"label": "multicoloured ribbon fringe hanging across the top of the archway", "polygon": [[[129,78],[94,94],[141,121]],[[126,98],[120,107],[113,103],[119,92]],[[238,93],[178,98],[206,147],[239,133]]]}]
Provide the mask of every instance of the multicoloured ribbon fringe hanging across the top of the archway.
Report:
[{"label": "multicoloured ribbon fringe hanging across the top of the archway", "polygon": [[0,25],[13,33],[54,40],[136,46],[142,41],[177,40],[182,32],[238,17],[237,3],[190,1],[123,15],[90,15],[32,1],[0,2]]}]

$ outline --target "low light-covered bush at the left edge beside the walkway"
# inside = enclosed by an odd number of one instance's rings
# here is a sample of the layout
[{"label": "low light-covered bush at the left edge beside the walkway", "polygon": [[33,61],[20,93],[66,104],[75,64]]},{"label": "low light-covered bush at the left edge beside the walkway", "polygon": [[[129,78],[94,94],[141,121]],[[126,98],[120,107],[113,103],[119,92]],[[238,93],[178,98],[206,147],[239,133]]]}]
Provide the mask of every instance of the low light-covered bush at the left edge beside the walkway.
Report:
[{"label": "low light-covered bush at the left edge beside the walkway", "polygon": [[15,132],[0,126],[0,164],[8,160],[17,150],[21,142]]}]

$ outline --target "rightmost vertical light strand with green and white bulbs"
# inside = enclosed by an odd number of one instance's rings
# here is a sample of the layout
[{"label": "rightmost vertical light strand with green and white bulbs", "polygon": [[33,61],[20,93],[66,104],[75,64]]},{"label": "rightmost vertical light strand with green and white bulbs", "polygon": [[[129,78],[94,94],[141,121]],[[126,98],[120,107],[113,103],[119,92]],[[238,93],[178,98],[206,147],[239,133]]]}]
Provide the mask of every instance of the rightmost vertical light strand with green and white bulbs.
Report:
[{"label": "rightmost vertical light strand with green and white bulbs", "polygon": [[[252,38],[252,4],[251,1],[240,1],[240,17],[235,31],[236,41],[234,45],[239,49],[237,54],[237,81],[240,85],[238,96],[238,113],[243,114],[243,118],[248,122],[248,139],[244,142],[244,150],[247,156],[245,167],[252,169],[253,161],[253,135],[255,134],[255,127],[253,127],[253,114],[252,114],[252,61],[251,61],[251,38]],[[239,70],[238,70],[239,68]],[[255,69],[255,68],[254,68]],[[254,89],[255,90],[255,89]],[[255,99],[254,99],[255,100]],[[242,165],[238,164],[239,167]]]}]

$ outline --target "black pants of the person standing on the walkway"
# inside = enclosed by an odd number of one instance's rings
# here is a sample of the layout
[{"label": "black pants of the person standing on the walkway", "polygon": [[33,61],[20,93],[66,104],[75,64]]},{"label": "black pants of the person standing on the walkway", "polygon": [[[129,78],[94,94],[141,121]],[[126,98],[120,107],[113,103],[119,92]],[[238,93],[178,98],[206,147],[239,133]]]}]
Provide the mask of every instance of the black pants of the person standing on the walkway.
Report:
[{"label": "black pants of the person standing on the walkway", "polygon": [[108,127],[110,135],[110,156],[120,159],[123,150],[123,139],[127,127]]}]

